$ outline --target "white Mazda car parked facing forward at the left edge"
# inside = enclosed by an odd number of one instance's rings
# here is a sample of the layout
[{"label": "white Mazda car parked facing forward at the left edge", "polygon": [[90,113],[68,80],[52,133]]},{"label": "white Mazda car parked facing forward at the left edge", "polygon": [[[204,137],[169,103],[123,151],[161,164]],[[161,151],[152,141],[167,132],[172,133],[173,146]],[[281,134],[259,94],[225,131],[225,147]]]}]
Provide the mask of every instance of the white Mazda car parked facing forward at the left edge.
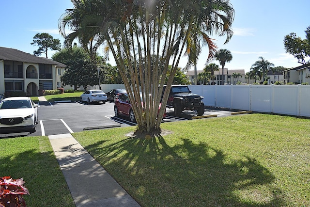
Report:
[{"label": "white Mazda car parked facing forward at the left edge", "polygon": [[38,106],[30,97],[4,98],[0,103],[0,133],[35,132]]}]

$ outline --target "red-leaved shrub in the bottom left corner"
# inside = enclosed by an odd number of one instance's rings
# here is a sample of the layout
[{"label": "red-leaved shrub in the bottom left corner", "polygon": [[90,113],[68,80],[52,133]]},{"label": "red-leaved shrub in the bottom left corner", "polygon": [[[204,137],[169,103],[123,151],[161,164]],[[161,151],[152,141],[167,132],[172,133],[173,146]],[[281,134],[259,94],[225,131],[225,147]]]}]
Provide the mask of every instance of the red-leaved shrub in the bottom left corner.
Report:
[{"label": "red-leaved shrub in the bottom left corner", "polygon": [[0,177],[0,207],[26,207],[23,195],[30,195],[23,178]]}]

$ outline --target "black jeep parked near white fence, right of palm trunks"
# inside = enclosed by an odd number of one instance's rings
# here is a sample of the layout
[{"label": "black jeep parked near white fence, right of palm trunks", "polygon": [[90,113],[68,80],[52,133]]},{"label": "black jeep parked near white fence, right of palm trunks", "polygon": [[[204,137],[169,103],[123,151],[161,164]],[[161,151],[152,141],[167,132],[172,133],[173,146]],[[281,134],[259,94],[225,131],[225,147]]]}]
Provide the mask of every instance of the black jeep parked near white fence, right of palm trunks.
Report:
[{"label": "black jeep parked near white fence, right of palm trunks", "polygon": [[[166,86],[164,86],[163,92]],[[174,113],[180,115],[184,110],[196,110],[199,116],[204,113],[203,97],[192,94],[187,85],[172,85],[167,101],[167,107],[174,108]]]}]

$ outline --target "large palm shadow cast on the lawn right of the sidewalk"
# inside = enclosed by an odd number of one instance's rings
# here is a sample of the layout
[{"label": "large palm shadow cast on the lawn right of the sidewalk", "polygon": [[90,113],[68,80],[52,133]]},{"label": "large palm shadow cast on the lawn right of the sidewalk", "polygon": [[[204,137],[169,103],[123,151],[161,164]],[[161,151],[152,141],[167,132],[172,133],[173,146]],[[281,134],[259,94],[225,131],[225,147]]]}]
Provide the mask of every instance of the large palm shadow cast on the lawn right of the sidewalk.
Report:
[{"label": "large palm shadow cast on the lawn right of the sidewalk", "polygon": [[85,147],[141,206],[285,206],[275,176],[256,159],[156,135]]}]

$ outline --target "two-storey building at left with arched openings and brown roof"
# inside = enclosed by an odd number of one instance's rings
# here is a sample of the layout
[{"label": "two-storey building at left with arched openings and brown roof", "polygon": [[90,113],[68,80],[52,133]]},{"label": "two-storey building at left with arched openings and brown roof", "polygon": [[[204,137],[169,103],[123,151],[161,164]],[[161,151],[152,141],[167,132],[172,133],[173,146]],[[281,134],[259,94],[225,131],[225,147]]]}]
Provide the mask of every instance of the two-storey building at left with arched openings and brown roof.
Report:
[{"label": "two-storey building at left with arched openings and brown roof", "polygon": [[37,96],[39,89],[57,89],[65,67],[47,58],[0,47],[0,94],[25,92]]}]

